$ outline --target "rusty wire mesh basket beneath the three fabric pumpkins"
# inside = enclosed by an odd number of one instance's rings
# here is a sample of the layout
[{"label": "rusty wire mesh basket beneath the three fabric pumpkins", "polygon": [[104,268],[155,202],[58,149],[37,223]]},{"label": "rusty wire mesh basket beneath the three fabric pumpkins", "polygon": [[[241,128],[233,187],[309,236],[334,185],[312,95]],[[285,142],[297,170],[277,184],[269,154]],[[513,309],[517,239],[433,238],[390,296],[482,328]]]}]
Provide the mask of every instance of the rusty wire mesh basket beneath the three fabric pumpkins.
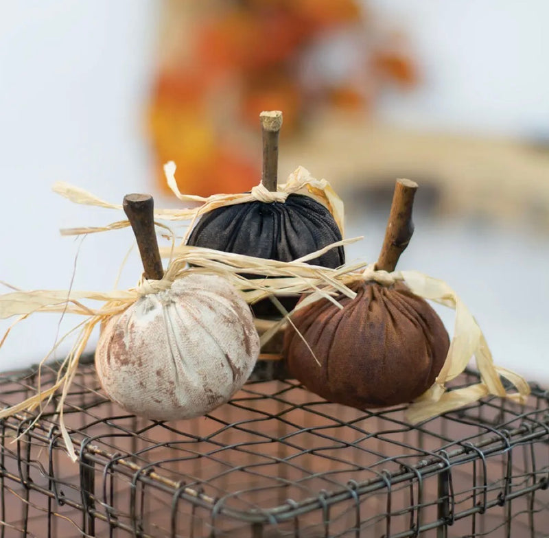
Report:
[{"label": "rusty wire mesh basket beneath the three fabric pumpkins", "polygon": [[[2,405],[36,393],[35,373],[0,383]],[[549,536],[539,387],[528,406],[484,399],[413,426],[403,407],[362,412],[277,380],[161,423],[115,406],[81,366],[65,405],[78,463],[55,408],[0,423],[0,538]]]}]

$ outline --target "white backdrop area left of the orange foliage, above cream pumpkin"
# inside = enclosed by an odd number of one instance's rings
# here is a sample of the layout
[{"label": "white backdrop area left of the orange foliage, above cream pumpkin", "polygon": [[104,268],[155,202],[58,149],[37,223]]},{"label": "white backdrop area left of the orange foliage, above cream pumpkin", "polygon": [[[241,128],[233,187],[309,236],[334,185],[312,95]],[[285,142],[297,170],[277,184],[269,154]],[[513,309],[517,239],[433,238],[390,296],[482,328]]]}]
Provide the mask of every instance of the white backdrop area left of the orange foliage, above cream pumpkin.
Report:
[{"label": "white backdrop area left of the orange foliage, above cream pumpkin", "polygon": [[[1,3],[0,280],[25,289],[67,289],[78,244],[60,237],[58,229],[119,218],[55,196],[54,181],[112,201],[146,189],[150,159],[143,102],[154,62],[158,5],[139,0]],[[108,290],[130,239],[127,230],[88,237],[75,288]],[[127,274],[128,285],[140,274],[135,258]],[[54,342],[58,319],[47,314],[21,324],[0,350],[0,368],[39,360]],[[73,323],[69,319],[63,327]],[[0,323],[3,327],[7,323]]]}]

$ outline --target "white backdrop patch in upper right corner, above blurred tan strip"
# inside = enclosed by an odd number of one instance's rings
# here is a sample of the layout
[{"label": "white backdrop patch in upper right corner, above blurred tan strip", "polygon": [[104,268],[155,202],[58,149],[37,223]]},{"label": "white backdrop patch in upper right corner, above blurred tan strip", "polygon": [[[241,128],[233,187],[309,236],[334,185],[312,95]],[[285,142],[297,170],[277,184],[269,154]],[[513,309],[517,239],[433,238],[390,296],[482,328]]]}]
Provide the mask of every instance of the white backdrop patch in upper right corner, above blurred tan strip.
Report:
[{"label": "white backdrop patch in upper right corner, above blurred tan strip", "polygon": [[404,27],[420,91],[389,95],[384,117],[412,127],[549,136],[549,2],[371,0]]}]

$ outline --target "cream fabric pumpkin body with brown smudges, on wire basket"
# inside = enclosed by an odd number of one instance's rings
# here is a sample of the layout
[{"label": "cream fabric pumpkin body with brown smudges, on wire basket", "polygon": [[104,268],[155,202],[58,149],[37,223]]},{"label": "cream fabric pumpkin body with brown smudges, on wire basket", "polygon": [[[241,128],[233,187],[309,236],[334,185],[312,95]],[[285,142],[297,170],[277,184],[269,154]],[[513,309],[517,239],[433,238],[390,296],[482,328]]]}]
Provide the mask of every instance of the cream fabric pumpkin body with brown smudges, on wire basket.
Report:
[{"label": "cream fabric pumpkin body with brown smudges, on wire basket", "polygon": [[228,401],[258,355],[246,302],[222,277],[190,274],[110,318],[95,366],[110,399],[143,417],[172,420]]}]

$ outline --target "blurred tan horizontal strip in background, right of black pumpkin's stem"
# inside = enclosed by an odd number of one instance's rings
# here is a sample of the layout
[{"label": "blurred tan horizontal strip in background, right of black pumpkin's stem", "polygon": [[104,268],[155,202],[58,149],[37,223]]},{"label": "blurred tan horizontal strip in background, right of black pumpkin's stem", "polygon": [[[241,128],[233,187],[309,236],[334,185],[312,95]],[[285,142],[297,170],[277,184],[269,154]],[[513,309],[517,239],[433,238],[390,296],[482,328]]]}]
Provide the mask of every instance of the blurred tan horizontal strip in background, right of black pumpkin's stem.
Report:
[{"label": "blurred tan horizontal strip in background, right of black pumpkin's stem", "polygon": [[414,132],[358,117],[318,116],[292,139],[281,134],[281,178],[303,165],[345,189],[393,185],[434,188],[442,215],[535,220],[549,230],[549,150],[503,138]]}]

